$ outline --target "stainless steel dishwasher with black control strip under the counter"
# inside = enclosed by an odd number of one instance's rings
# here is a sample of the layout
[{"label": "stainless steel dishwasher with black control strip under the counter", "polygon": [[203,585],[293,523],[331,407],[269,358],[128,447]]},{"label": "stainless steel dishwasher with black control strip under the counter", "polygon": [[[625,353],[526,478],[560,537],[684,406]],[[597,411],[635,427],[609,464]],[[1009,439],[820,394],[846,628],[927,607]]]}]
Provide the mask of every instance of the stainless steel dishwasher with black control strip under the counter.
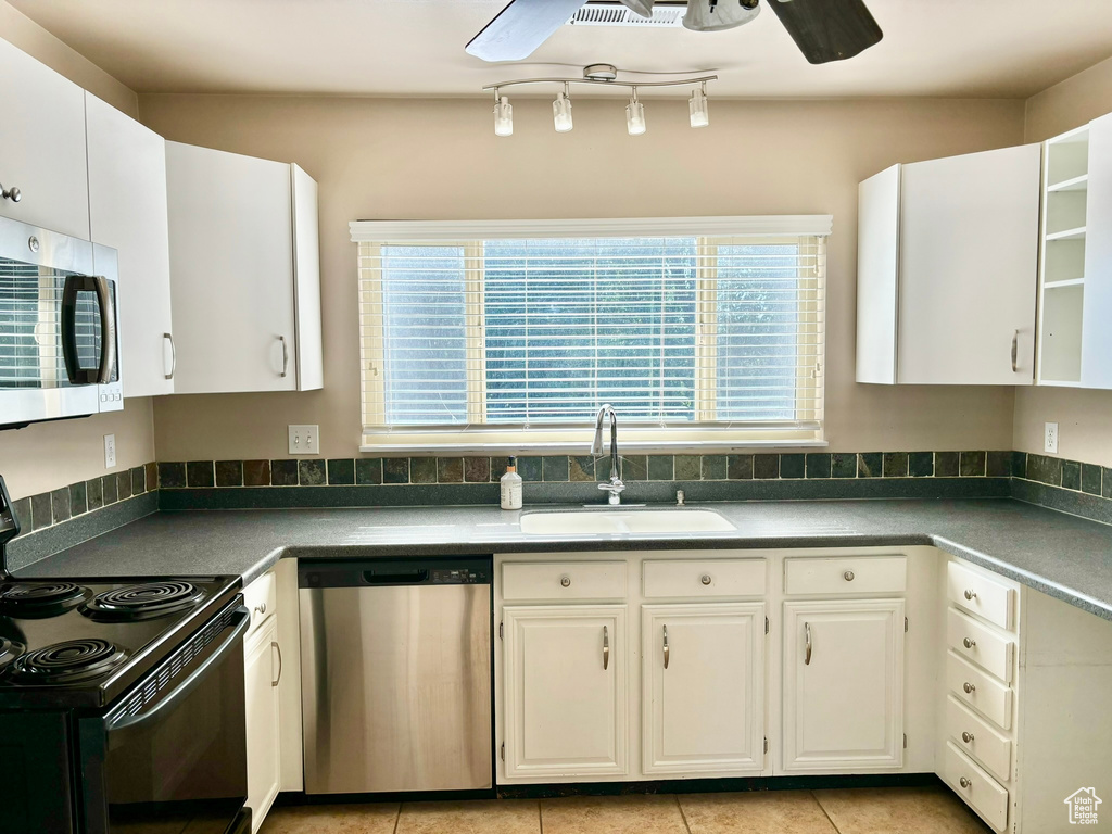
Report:
[{"label": "stainless steel dishwasher with black control strip under the counter", "polygon": [[307,794],[494,783],[481,558],[302,562]]}]

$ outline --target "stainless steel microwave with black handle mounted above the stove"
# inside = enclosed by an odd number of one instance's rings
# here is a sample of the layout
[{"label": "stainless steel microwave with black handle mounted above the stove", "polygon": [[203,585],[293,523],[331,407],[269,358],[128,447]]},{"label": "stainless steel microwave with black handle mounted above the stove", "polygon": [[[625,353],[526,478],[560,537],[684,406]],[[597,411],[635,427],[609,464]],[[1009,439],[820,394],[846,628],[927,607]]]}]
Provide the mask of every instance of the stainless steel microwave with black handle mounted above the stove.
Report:
[{"label": "stainless steel microwave with black handle mounted above the stove", "polygon": [[117,257],[0,218],[0,428],[123,408]]}]

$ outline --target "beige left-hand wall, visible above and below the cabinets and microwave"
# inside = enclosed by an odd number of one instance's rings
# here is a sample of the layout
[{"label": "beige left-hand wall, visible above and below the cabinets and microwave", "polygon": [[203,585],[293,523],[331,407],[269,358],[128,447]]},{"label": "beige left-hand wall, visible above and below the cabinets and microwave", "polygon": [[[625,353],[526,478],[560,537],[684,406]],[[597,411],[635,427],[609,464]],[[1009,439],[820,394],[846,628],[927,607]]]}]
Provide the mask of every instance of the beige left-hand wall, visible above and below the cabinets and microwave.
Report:
[{"label": "beige left-hand wall, visible above and below the cabinets and microwave", "polygon": [[[3,0],[0,0],[0,38],[130,116],[138,112],[135,92]],[[0,431],[0,475],[14,498],[103,475],[108,469],[102,436],[107,434],[116,435],[117,469],[112,471],[153,460],[150,399],[129,399],[119,414]]]}]

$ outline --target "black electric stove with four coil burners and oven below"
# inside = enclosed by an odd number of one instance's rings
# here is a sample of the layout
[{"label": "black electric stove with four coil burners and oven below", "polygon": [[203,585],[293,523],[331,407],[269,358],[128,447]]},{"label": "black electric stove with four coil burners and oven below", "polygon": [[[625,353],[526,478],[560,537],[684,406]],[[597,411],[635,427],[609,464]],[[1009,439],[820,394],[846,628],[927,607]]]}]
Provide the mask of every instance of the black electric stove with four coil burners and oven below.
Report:
[{"label": "black electric stove with four coil burners and oven below", "polygon": [[0,478],[0,834],[249,832],[240,578],[14,578],[18,533]]}]

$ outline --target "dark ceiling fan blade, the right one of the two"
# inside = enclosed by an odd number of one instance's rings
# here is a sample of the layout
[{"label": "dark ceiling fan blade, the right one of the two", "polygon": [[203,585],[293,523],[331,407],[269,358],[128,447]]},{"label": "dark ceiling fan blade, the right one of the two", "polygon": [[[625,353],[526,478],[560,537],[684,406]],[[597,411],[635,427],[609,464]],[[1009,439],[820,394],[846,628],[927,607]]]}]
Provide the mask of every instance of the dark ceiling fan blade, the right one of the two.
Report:
[{"label": "dark ceiling fan blade, the right one of the two", "polygon": [[884,37],[863,0],[768,0],[768,6],[812,63],[853,58]]}]

